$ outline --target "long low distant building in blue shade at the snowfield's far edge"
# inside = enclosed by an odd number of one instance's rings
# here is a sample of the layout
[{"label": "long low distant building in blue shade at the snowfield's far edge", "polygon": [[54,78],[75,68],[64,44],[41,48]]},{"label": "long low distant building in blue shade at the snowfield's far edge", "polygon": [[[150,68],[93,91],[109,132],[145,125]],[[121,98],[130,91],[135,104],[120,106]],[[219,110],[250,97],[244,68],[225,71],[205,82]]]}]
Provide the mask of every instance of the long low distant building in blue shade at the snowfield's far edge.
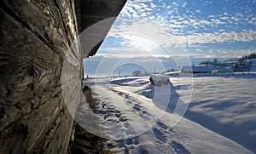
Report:
[{"label": "long low distant building in blue shade at the snowfield's far edge", "polygon": [[181,72],[184,73],[212,73],[213,66],[183,66]]}]

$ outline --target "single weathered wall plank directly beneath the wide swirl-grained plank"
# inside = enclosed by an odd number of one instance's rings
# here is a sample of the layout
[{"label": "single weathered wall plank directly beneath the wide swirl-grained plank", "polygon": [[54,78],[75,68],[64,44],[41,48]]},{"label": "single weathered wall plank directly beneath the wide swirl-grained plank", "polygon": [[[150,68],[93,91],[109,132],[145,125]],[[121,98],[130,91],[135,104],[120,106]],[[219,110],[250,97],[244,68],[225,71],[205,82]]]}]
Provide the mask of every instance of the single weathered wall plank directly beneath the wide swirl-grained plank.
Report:
[{"label": "single weathered wall plank directly beneath the wide swirl-grained plank", "polygon": [[[50,123],[54,123],[63,108],[61,94],[48,100],[43,106],[22,117],[20,121],[3,129],[0,142],[9,153],[32,153],[39,140],[45,138]],[[44,112],[47,111],[47,112]],[[17,129],[19,128],[19,129]],[[2,149],[1,148],[1,149]]]}]

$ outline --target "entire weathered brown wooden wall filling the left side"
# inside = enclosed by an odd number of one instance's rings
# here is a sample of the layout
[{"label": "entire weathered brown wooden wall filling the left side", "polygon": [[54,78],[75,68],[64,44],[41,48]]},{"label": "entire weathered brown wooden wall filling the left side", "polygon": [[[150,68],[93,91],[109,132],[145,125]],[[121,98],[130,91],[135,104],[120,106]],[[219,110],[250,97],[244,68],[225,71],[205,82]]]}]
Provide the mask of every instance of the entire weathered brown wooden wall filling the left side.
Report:
[{"label": "entire weathered brown wooden wall filling the left side", "polygon": [[74,8],[73,0],[1,0],[0,153],[67,153],[73,117],[62,87],[80,85],[61,81],[62,69],[82,66],[79,45],[69,49]]}]

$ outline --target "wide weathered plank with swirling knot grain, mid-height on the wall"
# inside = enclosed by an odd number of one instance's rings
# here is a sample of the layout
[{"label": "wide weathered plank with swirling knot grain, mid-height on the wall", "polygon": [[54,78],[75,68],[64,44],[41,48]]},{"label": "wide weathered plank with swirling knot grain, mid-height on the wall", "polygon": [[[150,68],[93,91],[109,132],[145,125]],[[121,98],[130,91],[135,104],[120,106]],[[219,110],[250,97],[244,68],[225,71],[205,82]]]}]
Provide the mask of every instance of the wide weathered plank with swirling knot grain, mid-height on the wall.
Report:
[{"label": "wide weathered plank with swirling knot grain, mid-height on the wall", "polygon": [[0,9],[0,105],[13,106],[60,84],[61,59]]}]

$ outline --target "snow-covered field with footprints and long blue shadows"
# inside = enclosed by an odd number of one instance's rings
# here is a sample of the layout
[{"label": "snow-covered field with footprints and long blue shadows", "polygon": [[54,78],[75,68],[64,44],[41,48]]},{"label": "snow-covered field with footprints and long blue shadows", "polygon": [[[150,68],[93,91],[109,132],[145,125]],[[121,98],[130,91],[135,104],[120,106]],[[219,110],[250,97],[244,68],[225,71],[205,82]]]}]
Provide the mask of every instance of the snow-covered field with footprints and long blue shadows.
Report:
[{"label": "snow-covered field with footprints and long blue shadows", "polygon": [[[98,123],[96,129],[108,138],[108,149],[114,153],[256,152],[255,74],[196,75],[190,81],[193,85],[181,82],[191,78],[181,80],[172,74],[171,84],[162,88],[151,85],[148,78],[84,82],[97,100],[91,123]],[[182,110],[175,110],[177,106]],[[85,104],[80,108],[89,112]],[[88,129],[96,133],[94,128]]]}]

